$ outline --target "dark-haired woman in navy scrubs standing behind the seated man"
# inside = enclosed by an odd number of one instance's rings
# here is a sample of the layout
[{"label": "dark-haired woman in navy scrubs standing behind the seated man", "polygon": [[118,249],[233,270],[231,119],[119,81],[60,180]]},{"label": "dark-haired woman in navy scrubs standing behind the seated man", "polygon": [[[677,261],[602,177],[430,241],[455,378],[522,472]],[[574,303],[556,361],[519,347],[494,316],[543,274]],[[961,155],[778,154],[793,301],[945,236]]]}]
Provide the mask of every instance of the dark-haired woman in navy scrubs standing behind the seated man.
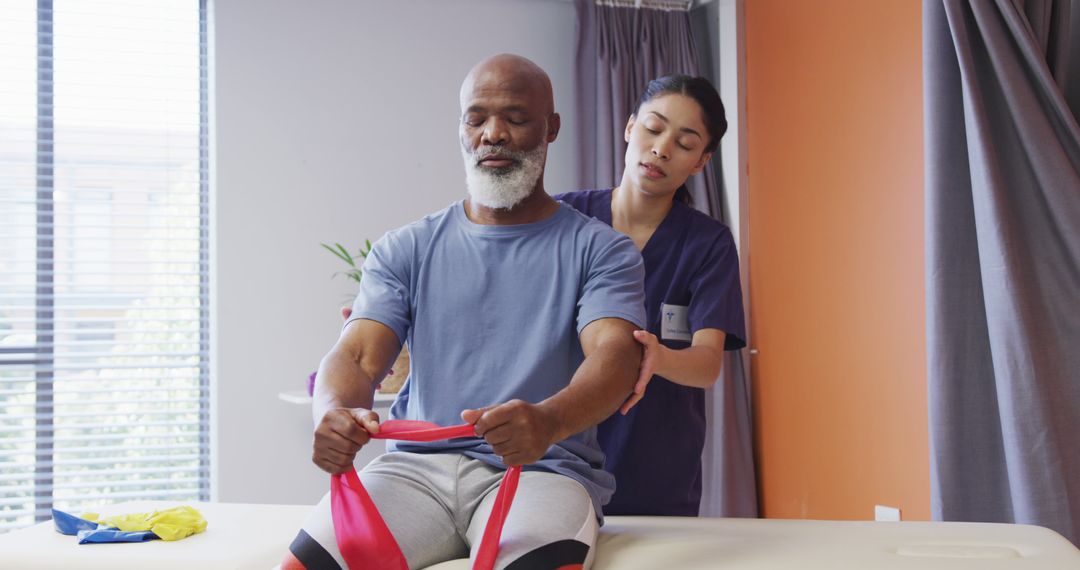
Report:
[{"label": "dark-haired woman in navy scrubs standing behind the seated man", "polygon": [[555,196],[630,236],[645,259],[648,330],[634,332],[645,347],[640,378],[598,432],[617,481],[606,515],[699,512],[705,389],[719,377],[724,351],[745,345],[745,332],[731,231],[693,209],[685,185],[726,131],[707,80],[654,79],[626,122],[619,186]]}]

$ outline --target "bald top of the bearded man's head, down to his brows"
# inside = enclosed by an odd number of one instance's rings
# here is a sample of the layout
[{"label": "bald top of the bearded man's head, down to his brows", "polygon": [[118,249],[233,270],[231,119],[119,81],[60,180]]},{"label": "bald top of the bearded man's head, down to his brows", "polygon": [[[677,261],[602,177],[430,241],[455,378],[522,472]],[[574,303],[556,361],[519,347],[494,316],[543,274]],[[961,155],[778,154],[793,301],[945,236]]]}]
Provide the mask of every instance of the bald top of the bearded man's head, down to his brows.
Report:
[{"label": "bald top of the bearded man's head, down to his brows", "polygon": [[513,54],[499,54],[476,64],[461,83],[461,109],[480,95],[505,94],[523,97],[544,114],[555,112],[555,96],[551,78],[530,59]]}]

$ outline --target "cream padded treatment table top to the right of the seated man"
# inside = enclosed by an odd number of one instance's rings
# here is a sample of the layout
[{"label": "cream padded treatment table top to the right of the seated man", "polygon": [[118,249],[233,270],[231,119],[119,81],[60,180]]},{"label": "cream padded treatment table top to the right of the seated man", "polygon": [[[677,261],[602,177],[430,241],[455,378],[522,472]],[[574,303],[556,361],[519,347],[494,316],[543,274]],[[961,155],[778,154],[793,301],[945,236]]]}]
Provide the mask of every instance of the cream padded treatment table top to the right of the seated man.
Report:
[{"label": "cream padded treatment table top to the right of the seated man", "polygon": [[[511,514],[513,516],[513,514]],[[429,570],[465,570],[454,560]],[[1080,570],[1080,551],[1041,527],[608,517],[593,570]]]}]

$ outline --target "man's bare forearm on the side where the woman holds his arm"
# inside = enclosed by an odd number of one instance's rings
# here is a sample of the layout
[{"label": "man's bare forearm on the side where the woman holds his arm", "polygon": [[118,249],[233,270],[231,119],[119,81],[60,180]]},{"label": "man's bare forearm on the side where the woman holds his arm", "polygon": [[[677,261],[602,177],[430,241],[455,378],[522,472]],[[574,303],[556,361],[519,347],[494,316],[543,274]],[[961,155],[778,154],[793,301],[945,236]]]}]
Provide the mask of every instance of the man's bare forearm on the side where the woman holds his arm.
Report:
[{"label": "man's bare forearm on the side where the woman holds his arm", "polygon": [[555,442],[606,420],[634,389],[642,348],[632,338],[596,347],[578,367],[570,384],[541,402],[555,419]]}]

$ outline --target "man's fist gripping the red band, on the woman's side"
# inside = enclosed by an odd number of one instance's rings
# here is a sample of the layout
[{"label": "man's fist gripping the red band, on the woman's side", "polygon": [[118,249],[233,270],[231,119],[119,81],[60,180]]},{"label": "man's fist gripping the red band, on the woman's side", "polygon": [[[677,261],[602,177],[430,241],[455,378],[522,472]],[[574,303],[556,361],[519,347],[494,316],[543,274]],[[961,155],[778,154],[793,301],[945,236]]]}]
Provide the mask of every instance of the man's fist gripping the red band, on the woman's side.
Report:
[{"label": "man's fist gripping the red band, on the woman's side", "polygon": [[461,419],[473,424],[476,435],[510,467],[539,461],[555,443],[556,420],[540,406],[521,399],[464,410]]}]

